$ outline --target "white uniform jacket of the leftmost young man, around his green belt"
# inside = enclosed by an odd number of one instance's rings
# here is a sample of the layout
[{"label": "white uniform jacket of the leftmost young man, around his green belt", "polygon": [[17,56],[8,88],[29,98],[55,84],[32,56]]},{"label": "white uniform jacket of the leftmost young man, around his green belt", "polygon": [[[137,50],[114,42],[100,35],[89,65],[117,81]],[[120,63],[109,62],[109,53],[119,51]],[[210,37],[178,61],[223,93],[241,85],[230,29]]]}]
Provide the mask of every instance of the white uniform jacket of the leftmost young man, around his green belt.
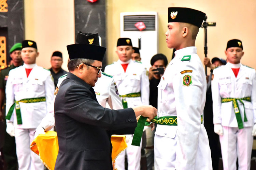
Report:
[{"label": "white uniform jacket of the leftmost young man, around his green belt", "polygon": [[[14,109],[11,122],[16,128],[37,128],[41,120],[51,110],[54,94],[54,82],[51,72],[35,65],[28,78],[25,66],[12,69],[6,82],[6,115],[14,103],[14,100],[45,97],[45,102],[22,103],[19,102],[22,116],[22,124],[17,124],[16,111]],[[6,120],[9,121],[9,120]]]}]

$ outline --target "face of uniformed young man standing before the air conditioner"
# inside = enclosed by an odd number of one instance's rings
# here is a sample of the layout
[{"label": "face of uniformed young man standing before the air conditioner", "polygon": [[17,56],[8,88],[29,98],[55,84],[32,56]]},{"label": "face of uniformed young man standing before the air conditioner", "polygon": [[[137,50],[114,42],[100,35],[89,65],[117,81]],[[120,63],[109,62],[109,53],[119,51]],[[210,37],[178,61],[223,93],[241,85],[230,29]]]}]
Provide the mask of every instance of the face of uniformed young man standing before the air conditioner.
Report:
[{"label": "face of uniformed young man standing before the air conditioner", "polygon": [[116,54],[122,62],[127,62],[131,59],[131,55],[134,52],[131,46],[118,46]]}]

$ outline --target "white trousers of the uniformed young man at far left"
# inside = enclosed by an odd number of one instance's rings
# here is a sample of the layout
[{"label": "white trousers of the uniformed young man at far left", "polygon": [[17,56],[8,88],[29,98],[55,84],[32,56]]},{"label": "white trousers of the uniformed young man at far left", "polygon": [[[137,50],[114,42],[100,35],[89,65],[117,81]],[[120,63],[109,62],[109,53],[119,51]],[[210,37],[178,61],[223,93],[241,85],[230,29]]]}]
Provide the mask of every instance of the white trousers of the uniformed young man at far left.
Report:
[{"label": "white trousers of the uniformed young man at far left", "polygon": [[35,129],[15,128],[16,153],[19,170],[43,170],[44,165],[39,156],[30,150],[30,144],[34,140]]}]

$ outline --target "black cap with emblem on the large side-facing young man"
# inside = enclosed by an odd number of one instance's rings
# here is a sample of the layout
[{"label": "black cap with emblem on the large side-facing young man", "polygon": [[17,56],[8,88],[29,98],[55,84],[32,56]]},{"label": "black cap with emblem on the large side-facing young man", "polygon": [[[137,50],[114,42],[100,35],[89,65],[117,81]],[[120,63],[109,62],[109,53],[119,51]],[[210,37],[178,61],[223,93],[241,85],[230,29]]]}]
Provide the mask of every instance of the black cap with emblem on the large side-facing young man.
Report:
[{"label": "black cap with emblem on the large side-facing young man", "polygon": [[168,8],[168,22],[185,22],[200,28],[204,17],[205,13],[191,8]]}]

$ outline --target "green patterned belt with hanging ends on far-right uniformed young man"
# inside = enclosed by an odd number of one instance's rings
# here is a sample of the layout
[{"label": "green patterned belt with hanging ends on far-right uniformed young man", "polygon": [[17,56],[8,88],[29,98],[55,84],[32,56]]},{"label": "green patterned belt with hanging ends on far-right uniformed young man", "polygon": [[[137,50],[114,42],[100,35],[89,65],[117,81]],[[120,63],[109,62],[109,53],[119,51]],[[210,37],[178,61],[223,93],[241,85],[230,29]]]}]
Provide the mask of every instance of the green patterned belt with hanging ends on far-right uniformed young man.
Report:
[{"label": "green patterned belt with hanging ends on far-right uniformed young man", "polygon": [[[238,98],[222,98],[221,102],[222,103],[233,102],[233,108],[234,108],[234,112],[235,112],[235,115],[236,115],[236,118],[237,118],[238,128],[243,129],[244,128],[243,121],[242,121],[240,109],[239,109],[238,104],[237,104],[238,100],[243,104],[243,107],[244,107],[244,102],[242,100],[251,102],[251,97],[245,97],[245,98],[241,98],[241,99],[238,99]],[[245,108],[244,108],[244,122],[247,122],[247,118],[246,118],[246,115],[245,115]]]}]

